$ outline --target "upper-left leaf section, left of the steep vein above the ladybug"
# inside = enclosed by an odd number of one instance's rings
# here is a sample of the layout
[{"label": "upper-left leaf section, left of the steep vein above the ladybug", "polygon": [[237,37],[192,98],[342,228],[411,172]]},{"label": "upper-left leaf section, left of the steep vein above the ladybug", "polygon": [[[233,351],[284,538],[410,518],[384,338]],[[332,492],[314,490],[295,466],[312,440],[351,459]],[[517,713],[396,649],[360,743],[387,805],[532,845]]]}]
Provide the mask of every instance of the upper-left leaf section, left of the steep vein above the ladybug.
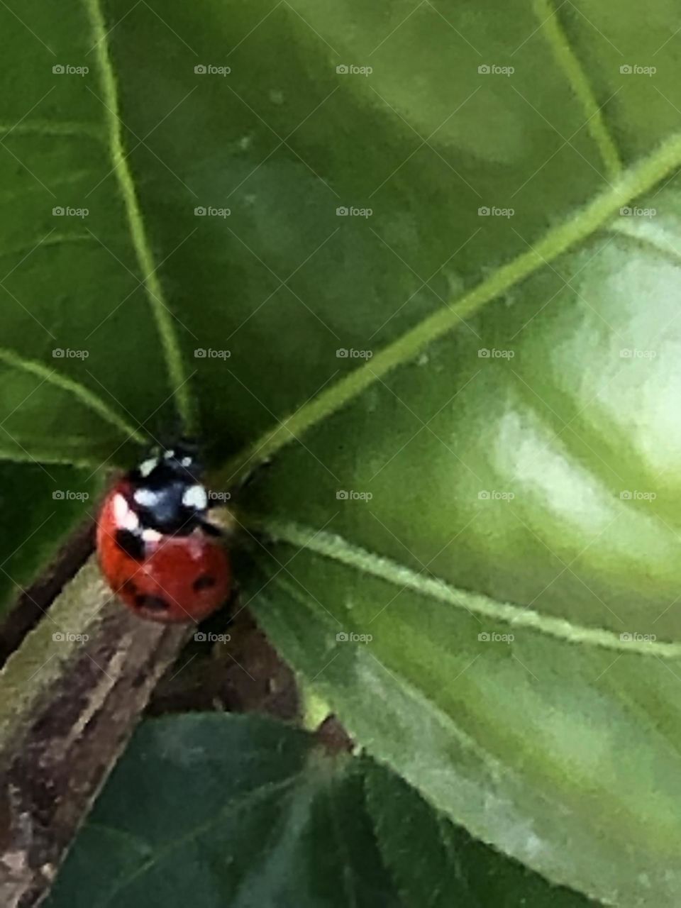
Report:
[{"label": "upper-left leaf section, left of the steep vein above the ladybug", "polygon": [[59,15],[37,3],[0,15],[11,48],[0,62],[0,456],[126,463],[148,438],[141,423],[167,422],[173,395],[187,422],[190,407],[121,147],[104,20],[74,0]]}]

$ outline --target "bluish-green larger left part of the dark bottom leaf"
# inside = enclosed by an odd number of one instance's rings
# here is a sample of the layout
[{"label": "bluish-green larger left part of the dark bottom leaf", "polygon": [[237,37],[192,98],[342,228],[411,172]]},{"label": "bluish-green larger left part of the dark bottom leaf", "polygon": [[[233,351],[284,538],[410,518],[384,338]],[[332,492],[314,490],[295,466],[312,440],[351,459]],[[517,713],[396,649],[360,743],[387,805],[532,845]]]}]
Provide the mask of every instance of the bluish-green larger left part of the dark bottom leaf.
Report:
[{"label": "bluish-green larger left part of the dark bottom leaf", "polygon": [[363,798],[349,756],[330,759],[285,725],[214,714],[147,722],[48,904],[398,908]]}]

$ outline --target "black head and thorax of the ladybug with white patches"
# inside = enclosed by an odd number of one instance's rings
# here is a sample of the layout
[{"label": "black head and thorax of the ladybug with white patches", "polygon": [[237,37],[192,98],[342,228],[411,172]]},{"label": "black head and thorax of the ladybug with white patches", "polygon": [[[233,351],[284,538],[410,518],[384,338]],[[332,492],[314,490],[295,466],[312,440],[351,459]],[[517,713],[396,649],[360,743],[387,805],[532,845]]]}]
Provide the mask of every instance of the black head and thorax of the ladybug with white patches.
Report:
[{"label": "black head and thorax of the ladybug with white patches", "polygon": [[195,449],[183,442],[150,455],[129,475],[129,502],[145,529],[185,536],[202,525],[208,493]]}]

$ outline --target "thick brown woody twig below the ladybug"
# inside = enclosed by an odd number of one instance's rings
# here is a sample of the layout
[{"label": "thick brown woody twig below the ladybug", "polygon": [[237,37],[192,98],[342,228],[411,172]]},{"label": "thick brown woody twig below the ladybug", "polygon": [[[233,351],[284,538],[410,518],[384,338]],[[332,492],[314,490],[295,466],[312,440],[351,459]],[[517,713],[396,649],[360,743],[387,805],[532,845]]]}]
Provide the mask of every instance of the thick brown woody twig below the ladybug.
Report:
[{"label": "thick brown woody twig below the ladybug", "polygon": [[0,675],[3,906],[43,900],[153,686],[190,632],[128,613],[91,559],[8,659]]}]

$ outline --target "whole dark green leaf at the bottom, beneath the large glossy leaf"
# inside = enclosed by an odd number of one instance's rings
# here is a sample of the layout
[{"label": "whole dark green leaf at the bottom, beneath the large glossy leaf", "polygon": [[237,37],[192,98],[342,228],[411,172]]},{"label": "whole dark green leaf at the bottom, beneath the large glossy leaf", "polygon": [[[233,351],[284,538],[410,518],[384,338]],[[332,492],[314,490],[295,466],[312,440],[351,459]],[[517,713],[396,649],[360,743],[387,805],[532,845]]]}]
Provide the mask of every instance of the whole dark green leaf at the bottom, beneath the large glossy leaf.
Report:
[{"label": "whole dark green leaf at the bottom, beneath the large glossy leaf", "polygon": [[505,908],[587,905],[367,758],[259,716],[194,714],[138,729],[47,904],[475,908],[492,895]]}]

